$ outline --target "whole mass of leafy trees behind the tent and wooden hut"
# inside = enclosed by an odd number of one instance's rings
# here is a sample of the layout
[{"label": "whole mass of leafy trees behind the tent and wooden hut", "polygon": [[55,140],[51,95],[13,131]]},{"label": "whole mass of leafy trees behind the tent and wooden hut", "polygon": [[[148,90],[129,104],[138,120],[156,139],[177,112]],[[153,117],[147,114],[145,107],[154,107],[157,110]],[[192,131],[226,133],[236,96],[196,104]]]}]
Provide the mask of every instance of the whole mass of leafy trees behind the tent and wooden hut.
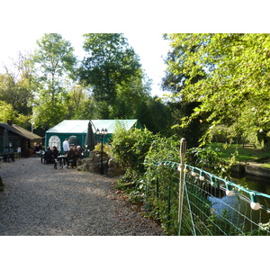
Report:
[{"label": "whole mass of leafy trees behind the tent and wooden hut", "polygon": [[148,130],[166,135],[168,107],[150,95],[152,81],[123,34],[84,37],[82,61],[68,40],[49,33],[37,40],[33,53],[19,54],[14,70],[4,67],[0,98],[16,112],[13,121],[25,116],[23,127],[32,125],[43,136],[64,119],[139,119]]}]

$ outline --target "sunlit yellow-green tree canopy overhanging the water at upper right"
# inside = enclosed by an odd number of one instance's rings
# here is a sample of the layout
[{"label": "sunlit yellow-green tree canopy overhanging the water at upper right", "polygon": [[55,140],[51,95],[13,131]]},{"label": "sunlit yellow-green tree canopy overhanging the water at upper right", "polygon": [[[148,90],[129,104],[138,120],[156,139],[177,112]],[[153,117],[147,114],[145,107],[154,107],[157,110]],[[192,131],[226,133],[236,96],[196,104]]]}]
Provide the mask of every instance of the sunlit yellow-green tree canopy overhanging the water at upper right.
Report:
[{"label": "sunlit yellow-green tree canopy overhanging the water at upper right", "polygon": [[181,89],[175,95],[200,103],[182,123],[207,114],[204,121],[212,125],[269,131],[270,34],[167,34],[166,39],[175,49],[167,72],[184,77],[173,82]]}]

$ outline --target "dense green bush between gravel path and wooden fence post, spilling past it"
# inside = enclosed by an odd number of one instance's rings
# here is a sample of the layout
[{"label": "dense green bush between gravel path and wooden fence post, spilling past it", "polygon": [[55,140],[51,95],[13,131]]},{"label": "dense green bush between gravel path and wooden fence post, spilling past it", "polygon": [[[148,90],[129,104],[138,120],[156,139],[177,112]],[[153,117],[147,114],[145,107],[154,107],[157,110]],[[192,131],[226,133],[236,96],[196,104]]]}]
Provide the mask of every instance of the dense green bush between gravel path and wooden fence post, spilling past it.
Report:
[{"label": "dense green bush between gravel path and wooden fence post, spilling past it", "polygon": [[[146,129],[119,127],[112,137],[112,156],[126,169],[119,186],[130,194],[131,202],[143,202],[148,216],[158,220],[168,235],[178,233],[179,148],[176,137],[161,138]],[[187,150],[186,163],[219,175],[226,172],[219,152],[211,148]]]}]

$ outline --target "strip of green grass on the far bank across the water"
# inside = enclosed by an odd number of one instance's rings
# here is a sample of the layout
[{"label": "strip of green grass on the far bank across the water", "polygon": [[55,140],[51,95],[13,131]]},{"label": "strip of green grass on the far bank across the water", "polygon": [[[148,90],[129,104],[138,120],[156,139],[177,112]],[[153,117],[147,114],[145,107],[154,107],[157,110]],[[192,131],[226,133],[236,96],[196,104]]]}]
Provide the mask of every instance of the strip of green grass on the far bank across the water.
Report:
[{"label": "strip of green grass on the far bank across the water", "polygon": [[[257,161],[257,159],[261,158],[270,159],[269,149],[252,147],[243,148],[242,145],[229,145],[217,142],[212,142],[210,146],[213,149],[218,148],[220,150],[220,156],[223,157],[226,161],[229,161],[229,159],[236,153],[238,153],[238,155],[236,155],[236,161],[238,162]],[[266,163],[264,163],[263,166],[270,167],[269,160],[266,160]]]}]

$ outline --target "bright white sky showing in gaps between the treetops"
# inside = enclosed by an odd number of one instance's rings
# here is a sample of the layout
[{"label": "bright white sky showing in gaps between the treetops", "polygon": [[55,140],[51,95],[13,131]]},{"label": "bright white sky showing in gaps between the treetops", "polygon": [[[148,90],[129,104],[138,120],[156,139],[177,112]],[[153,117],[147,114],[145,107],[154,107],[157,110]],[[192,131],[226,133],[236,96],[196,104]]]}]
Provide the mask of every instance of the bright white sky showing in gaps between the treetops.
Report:
[{"label": "bright white sky showing in gaps between the treetops", "polygon": [[[69,40],[75,48],[75,54],[79,58],[84,57],[82,49],[83,32],[59,32],[65,40]],[[11,58],[16,58],[19,51],[33,51],[44,32],[14,32],[2,33],[0,42],[0,70],[3,65],[9,65]],[[164,76],[166,65],[163,58],[169,49],[168,42],[162,38],[161,32],[128,32],[123,33],[129,44],[139,55],[140,64],[149,78],[153,80],[152,95],[161,96],[164,92],[160,89],[161,79]],[[1,69],[2,68],[2,69]]]}]

